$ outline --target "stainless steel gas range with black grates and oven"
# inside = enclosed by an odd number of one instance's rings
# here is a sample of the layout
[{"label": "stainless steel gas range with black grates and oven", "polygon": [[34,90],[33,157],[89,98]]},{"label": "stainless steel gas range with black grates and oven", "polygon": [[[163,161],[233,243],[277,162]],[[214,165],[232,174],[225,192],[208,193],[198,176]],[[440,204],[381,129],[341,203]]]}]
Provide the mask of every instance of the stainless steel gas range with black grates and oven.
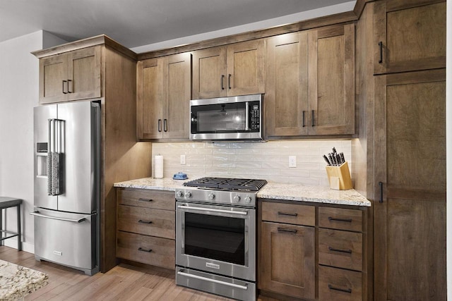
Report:
[{"label": "stainless steel gas range with black grates and oven", "polygon": [[201,178],[176,191],[176,284],[256,300],[256,194],[266,180]]}]

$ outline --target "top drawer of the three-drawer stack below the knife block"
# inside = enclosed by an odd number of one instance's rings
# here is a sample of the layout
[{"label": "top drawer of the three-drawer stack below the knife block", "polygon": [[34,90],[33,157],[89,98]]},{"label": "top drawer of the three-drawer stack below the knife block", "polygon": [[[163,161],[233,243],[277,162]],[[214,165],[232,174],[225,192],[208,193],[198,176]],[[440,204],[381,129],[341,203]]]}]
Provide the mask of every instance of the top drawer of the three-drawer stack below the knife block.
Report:
[{"label": "top drawer of the three-drawer stack below the knife block", "polygon": [[319,207],[319,227],[361,232],[362,211]]}]

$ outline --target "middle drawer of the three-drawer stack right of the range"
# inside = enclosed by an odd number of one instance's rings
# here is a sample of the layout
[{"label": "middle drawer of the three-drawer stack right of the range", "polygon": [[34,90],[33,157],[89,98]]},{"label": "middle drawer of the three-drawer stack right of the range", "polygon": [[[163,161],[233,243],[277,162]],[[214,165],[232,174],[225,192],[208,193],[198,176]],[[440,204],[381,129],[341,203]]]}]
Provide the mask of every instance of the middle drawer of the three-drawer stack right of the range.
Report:
[{"label": "middle drawer of the three-drawer stack right of the range", "polygon": [[362,233],[319,229],[319,264],[362,271]]}]

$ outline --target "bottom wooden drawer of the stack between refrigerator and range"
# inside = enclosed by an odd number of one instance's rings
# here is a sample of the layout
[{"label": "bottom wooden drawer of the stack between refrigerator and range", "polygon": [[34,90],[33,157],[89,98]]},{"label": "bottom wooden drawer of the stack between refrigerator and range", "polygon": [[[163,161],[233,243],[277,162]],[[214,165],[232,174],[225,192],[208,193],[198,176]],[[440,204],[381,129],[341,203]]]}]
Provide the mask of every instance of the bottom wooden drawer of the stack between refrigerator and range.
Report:
[{"label": "bottom wooden drawer of the stack between refrigerator and range", "polygon": [[175,252],[174,240],[117,232],[116,255],[119,258],[174,269]]}]

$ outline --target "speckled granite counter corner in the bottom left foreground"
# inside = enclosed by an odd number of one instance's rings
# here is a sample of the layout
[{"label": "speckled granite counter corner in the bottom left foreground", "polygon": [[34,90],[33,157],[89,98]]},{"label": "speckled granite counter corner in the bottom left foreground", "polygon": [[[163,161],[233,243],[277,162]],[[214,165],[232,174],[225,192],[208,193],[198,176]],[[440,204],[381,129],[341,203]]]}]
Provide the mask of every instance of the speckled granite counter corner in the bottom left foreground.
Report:
[{"label": "speckled granite counter corner in the bottom left foreground", "polygon": [[0,259],[0,300],[18,300],[47,285],[47,274]]}]

